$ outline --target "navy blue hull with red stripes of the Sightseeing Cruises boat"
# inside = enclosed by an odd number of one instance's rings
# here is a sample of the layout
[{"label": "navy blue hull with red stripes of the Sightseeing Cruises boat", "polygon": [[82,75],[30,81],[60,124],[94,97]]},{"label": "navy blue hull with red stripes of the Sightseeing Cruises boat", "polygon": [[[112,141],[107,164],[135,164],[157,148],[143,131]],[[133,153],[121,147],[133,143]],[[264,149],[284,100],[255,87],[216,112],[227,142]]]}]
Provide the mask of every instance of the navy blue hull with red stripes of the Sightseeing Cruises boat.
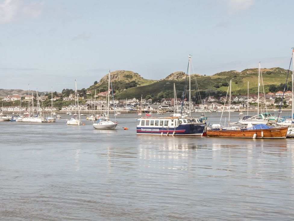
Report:
[{"label": "navy blue hull with red stripes of the Sightseeing Cruises boat", "polygon": [[170,127],[141,127],[137,126],[137,134],[145,135],[175,135],[175,136],[202,136],[205,130],[205,123],[181,124],[176,128]]}]

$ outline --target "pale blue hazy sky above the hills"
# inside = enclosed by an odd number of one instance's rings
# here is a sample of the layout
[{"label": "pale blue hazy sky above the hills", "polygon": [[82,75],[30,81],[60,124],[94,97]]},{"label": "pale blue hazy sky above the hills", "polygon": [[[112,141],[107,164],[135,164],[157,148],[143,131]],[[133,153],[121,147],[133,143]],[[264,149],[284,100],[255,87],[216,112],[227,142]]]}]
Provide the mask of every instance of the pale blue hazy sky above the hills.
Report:
[{"label": "pale blue hazy sky above the hills", "polygon": [[0,0],[0,88],[88,88],[108,69],[146,79],[289,68],[294,1]]}]

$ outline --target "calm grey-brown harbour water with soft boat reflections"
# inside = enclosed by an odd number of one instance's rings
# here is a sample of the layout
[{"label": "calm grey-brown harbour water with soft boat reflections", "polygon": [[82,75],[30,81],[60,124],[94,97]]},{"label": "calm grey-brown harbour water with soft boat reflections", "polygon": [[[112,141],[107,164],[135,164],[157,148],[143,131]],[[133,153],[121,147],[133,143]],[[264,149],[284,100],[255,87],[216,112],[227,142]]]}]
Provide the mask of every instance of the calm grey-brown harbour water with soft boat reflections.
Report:
[{"label": "calm grey-brown harbour water with soft boat reflections", "polygon": [[137,136],[133,114],[115,131],[62,117],[0,122],[1,220],[294,219],[294,139]]}]

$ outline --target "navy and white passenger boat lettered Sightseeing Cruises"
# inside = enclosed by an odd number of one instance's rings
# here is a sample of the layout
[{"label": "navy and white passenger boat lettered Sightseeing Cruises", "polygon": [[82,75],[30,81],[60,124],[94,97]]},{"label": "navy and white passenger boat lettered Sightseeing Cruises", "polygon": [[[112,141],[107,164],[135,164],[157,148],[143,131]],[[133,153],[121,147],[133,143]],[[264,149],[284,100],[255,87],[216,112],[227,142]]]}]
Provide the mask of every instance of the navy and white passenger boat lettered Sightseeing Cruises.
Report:
[{"label": "navy and white passenger boat lettered Sightseeing Cruises", "polygon": [[141,118],[137,126],[137,134],[202,136],[206,123],[198,119],[178,117]]}]

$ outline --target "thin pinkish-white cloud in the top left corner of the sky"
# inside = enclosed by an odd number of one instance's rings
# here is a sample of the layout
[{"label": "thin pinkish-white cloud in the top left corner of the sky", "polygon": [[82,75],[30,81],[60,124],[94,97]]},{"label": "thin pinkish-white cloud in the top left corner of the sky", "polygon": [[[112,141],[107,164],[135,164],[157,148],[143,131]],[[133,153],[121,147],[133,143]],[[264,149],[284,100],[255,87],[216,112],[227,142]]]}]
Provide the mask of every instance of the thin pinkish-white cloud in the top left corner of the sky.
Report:
[{"label": "thin pinkish-white cloud in the top left corner of the sky", "polygon": [[4,0],[0,3],[0,24],[38,18],[44,8],[44,2],[24,3],[21,0]]}]

